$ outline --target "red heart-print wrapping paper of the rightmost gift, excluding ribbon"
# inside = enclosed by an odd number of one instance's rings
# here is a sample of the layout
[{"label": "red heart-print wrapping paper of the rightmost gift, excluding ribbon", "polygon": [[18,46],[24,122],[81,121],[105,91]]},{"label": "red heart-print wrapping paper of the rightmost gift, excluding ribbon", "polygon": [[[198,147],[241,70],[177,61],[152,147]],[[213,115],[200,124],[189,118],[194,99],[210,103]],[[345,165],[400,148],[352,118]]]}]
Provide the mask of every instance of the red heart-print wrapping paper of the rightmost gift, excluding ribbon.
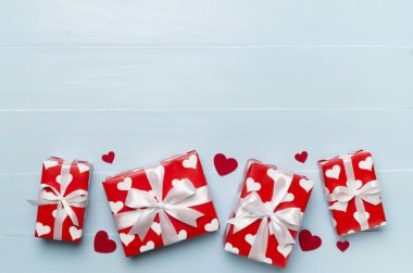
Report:
[{"label": "red heart-print wrapping paper of the rightmost gift, excluding ribbon", "polygon": [[[345,161],[348,160],[351,170],[346,170]],[[359,181],[358,187],[361,188],[370,182],[376,181],[376,173],[374,170],[372,154],[367,151],[356,151],[341,157],[335,157],[327,160],[318,161],[322,170],[322,176],[325,185],[325,194],[330,206],[335,206],[337,201],[328,198],[337,187],[348,185],[348,173],[350,176],[354,176],[355,181]],[[381,202],[373,204],[366,201],[362,201],[365,212],[368,213],[367,223],[365,229],[372,229],[386,225],[386,216]],[[331,209],[331,222],[339,236],[361,232],[362,226],[356,221],[355,200],[351,199],[348,202],[346,211]]]}]

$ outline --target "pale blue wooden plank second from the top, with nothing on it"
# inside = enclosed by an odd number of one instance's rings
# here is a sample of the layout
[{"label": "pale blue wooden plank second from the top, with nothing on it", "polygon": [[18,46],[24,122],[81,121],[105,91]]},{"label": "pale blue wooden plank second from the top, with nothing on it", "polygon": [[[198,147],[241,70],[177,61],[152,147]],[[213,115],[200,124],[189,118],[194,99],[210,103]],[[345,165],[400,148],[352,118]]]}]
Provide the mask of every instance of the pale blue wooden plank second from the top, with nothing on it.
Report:
[{"label": "pale blue wooden plank second from the top, with nothing on it", "polygon": [[0,49],[0,110],[413,108],[409,49]]}]

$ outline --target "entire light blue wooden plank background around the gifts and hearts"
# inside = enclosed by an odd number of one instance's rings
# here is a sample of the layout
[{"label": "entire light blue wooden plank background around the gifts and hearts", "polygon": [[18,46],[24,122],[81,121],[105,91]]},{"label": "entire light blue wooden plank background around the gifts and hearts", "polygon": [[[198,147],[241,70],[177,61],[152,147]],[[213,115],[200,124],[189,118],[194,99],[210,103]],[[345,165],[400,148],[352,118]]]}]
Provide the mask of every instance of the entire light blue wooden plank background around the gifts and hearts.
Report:
[{"label": "entire light blue wooden plank background around the gifts and hearts", "polygon": [[[315,181],[285,272],[411,272],[413,2],[409,0],[0,0],[2,272],[277,272],[224,252],[222,231],[126,259],[101,181],[197,149],[224,224],[250,157]],[[316,160],[374,154],[388,225],[345,253]],[[116,152],[112,165],[100,160]],[[305,164],[293,160],[301,150]],[[216,152],[237,172],[220,177]],[[95,163],[85,240],[34,238],[41,160]],[[107,229],[111,255],[92,250]],[[5,271],[4,271],[5,269]]]}]

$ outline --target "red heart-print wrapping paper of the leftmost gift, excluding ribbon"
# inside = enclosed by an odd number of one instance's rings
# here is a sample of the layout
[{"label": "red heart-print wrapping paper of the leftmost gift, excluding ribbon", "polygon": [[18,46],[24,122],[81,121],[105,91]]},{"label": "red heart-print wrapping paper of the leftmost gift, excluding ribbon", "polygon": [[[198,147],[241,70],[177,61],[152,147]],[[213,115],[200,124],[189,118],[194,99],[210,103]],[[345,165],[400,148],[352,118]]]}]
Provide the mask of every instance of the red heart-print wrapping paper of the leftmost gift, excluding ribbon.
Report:
[{"label": "red heart-print wrapping paper of the leftmost gift, excluding ribbon", "polygon": [[[91,175],[91,164],[87,161],[64,161],[60,158],[49,158],[45,160],[42,164],[41,184],[52,186],[62,194],[60,178],[64,163],[70,164],[70,178],[63,197],[71,195],[75,190],[87,191]],[[50,189],[47,191],[51,193]],[[79,243],[83,235],[86,206],[84,208],[71,206],[71,208],[77,216],[78,226],[74,225],[72,219],[62,210],[64,215],[61,225],[61,236],[57,237],[55,234],[58,234],[59,231],[55,231],[54,228],[58,203],[38,204],[35,236],[46,239]]]}]

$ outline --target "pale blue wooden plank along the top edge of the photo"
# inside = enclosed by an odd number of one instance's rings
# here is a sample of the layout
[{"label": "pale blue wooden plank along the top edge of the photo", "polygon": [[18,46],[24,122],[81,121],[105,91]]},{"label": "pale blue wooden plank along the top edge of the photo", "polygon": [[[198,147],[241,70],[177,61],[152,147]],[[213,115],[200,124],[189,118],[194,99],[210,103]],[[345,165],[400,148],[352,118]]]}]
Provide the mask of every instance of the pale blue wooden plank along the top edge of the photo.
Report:
[{"label": "pale blue wooden plank along the top edge of the photo", "polygon": [[413,3],[0,1],[0,45],[411,46]]}]

